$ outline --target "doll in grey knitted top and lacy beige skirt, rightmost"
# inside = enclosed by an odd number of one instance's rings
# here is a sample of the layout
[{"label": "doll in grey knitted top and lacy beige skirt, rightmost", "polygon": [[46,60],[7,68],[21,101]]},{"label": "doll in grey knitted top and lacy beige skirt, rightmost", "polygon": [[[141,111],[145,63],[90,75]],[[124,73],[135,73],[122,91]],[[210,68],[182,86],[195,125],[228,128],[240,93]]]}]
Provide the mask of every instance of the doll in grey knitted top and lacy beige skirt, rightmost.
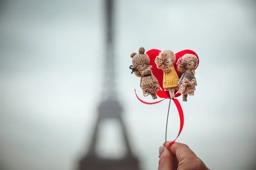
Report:
[{"label": "doll in grey knitted top and lacy beige skirt, rightmost", "polygon": [[187,96],[194,96],[195,86],[195,68],[198,65],[198,59],[193,54],[185,54],[177,61],[178,71],[183,73],[178,82],[178,93],[183,94],[183,101],[187,101]]}]

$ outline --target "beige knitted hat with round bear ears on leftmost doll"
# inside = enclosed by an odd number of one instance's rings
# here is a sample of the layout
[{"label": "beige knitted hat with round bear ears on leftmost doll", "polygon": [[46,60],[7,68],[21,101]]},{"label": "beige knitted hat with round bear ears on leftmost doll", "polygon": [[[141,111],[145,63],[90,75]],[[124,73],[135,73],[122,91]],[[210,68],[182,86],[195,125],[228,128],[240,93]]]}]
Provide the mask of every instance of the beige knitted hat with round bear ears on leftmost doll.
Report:
[{"label": "beige knitted hat with round bear ears on leftmost doll", "polygon": [[134,67],[137,67],[140,64],[148,64],[149,65],[149,57],[145,53],[145,48],[140,47],[139,53],[132,53],[131,58],[132,58],[132,65]]}]

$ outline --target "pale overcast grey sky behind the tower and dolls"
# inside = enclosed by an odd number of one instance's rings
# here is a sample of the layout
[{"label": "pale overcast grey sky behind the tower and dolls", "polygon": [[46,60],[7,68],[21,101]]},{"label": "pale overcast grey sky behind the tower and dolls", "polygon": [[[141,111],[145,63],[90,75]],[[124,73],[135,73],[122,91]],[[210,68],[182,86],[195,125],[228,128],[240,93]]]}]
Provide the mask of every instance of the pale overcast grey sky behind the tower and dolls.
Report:
[{"label": "pale overcast grey sky behind the tower and dolls", "polygon": [[[116,0],[117,1],[117,0]],[[177,142],[212,170],[248,169],[256,158],[256,3],[253,0],[120,0],[116,3],[117,91],[134,154],[156,170],[168,100],[144,105],[130,54],[142,46],[195,51],[195,96]],[[0,13],[0,162],[8,170],[74,170],[86,153],[101,100],[105,57],[102,0],[26,0]],[[97,153],[124,152],[117,122],[100,128]],[[171,104],[168,140],[179,117]]]}]

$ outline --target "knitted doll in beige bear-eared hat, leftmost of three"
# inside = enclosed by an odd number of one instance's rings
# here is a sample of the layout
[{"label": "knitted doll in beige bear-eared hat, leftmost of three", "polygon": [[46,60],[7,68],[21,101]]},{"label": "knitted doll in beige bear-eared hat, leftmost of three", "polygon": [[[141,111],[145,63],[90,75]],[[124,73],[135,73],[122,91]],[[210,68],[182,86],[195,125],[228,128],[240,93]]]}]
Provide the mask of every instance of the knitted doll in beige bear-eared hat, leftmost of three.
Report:
[{"label": "knitted doll in beige bear-eared hat, leftmost of three", "polygon": [[130,69],[137,77],[140,77],[140,87],[143,90],[144,96],[151,95],[153,99],[157,99],[157,92],[160,90],[160,86],[156,77],[151,71],[151,65],[149,65],[149,57],[145,53],[145,48],[141,47],[139,53],[132,53],[132,65]]}]

